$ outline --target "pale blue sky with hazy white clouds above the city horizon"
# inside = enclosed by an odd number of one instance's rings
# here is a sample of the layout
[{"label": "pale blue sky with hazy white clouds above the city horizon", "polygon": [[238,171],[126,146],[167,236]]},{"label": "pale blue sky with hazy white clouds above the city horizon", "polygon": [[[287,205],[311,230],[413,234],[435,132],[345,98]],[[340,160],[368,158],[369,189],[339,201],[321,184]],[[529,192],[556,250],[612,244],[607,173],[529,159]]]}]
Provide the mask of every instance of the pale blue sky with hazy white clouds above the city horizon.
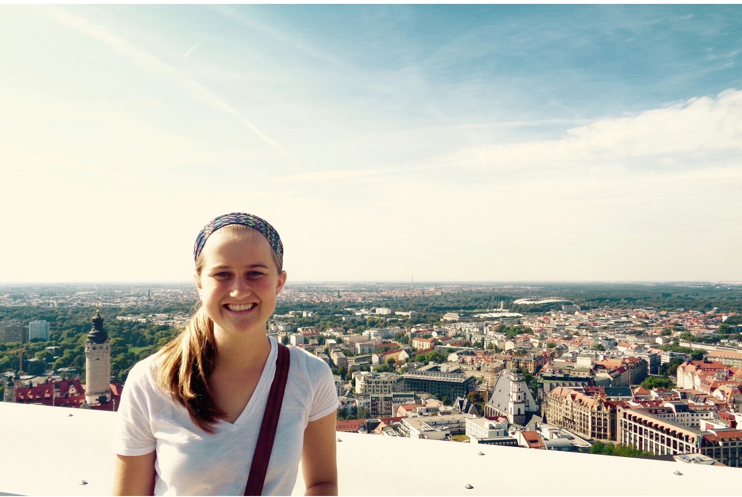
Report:
[{"label": "pale blue sky with hazy white clouds above the city horizon", "polygon": [[742,281],[738,5],[0,5],[0,282]]}]

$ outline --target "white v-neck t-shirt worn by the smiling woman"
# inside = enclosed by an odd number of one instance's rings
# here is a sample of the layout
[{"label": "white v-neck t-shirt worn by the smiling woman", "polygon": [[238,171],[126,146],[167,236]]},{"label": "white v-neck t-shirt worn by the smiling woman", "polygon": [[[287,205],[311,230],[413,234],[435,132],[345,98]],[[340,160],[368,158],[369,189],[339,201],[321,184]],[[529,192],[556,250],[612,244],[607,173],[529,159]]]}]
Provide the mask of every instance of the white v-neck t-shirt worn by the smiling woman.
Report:
[{"label": "white v-neck t-shirt worn by the smiling woman", "polygon": [[[234,424],[220,420],[214,435],[198,428],[185,407],[157,386],[157,355],[131,368],[116,416],[114,452],[144,455],[157,450],[154,495],[244,494],[275,376],[278,345],[272,337],[270,342],[266,366],[245,410]],[[263,486],[264,496],[291,495],[306,423],[338,409],[338,394],[329,366],[301,348],[289,347],[289,351],[289,378]]]}]

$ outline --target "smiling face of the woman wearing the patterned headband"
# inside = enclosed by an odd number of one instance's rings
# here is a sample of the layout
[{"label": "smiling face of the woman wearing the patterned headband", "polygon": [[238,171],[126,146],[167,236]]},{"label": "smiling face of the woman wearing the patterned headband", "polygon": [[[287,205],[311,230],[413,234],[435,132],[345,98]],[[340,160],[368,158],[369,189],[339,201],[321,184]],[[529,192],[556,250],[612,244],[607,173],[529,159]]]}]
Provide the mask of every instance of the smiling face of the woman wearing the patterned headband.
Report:
[{"label": "smiling face of the woman wearing the patterned headband", "polygon": [[196,286],[214,331],[265,333],[286,283],[286,271],[278,273],[272,254],[268,240],[254,230],[222,229],[209,236]]}]

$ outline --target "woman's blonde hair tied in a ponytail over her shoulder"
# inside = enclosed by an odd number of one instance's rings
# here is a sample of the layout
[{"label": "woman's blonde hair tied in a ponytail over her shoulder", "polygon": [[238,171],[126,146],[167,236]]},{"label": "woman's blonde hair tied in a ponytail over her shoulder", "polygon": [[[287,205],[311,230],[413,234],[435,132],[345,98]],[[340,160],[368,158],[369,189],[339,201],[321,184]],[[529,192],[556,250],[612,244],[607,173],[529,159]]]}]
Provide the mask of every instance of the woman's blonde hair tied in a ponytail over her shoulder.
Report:
[{"label": "woman's blonde hair tied in a ponytail over her shoulder", "polygon": [[[228,224],[221,228],[228,233],[262,233],[242,224]],[[278,273],[282,268],[278,256],[271,251],[273,262]],[[203,252],[196,261],[196,277],[200,278],[203,270]],[[214,395],[209,388],[209,377],[216,366],[217,344],[214,339],[214,322],[206,309],[199,303],[188,325],[177,337],[157,352],[162,357],[157,369],[157,385],[163,392],[188,410],[188,415],[196,426],[213,434],[220,418],[226,415],[217,406]]]}]

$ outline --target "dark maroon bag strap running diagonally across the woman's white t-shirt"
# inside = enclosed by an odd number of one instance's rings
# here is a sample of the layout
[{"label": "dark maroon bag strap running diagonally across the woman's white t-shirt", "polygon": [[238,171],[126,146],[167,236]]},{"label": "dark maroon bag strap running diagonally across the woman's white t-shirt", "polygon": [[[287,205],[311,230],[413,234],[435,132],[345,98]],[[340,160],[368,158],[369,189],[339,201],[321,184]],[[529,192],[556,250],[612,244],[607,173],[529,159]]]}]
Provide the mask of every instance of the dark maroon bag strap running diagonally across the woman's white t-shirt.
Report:
[{"label": "dark maroon bag strap running diagonally across the woman's white t-shirt", "polygon": [[289,348],[278,342],[276,374],[273,377],[271,391],[268,394],[268,403],[266,404],[266,412],[263,414],[263,423],[260,425],[260,434],[257,435],[255,454],[252,455],[252,465],[245,487],[246,496],[260,496],[263,494],[263,484],[266,482],[268,463],[271,460],[280,408],[283,404],[283,392],[286,390],[286,378],[289,377],[289,362]]}]

